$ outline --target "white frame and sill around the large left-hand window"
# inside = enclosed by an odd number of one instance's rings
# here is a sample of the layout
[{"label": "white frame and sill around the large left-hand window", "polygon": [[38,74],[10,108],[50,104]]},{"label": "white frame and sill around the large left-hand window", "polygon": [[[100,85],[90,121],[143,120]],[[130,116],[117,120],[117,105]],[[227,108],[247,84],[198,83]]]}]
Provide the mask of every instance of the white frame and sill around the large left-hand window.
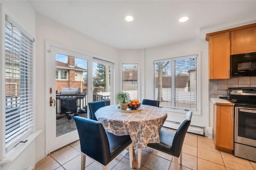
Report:
[{"label": "white frame and sill around the large left-hand window", "polygon": [[[0,4],[0,7],[2,4]],[[12,23],[13,26],[15,26],[16,28],[18,28],[18,30],[20,30],[21,32],[23,32],[23,34],[25,34],[28,38],[30,38],[30,40],[34,40],[33,36],[31,36],[31,34],[29,34],[28,32],[26,32],[26,29],[24,29],[22,26],[19,26],[19,24],[17,24],[17,22],[15,22],[14,20],[12,20],[12,18],[10,18],[9,16],[7,16],[4,12],[1,12],[2,16],[1,16],[1,35],[5,35],[5,20],[3,19],[5,17],[6,20],[10,21],[10,23]],[[1,40],[0,40],[0,51],[1,51],[1,69],[0,69],[0,78],[2,81],[2,83],[0,83],[0,90],[2,94],[5,94],[5,36],[1,36]],[[33,54],[33,61],[32,61],[32,72],[34,73],[32,76],[32,88],[36,89],[36,67],[35,63],[36,63],[36,57],[35,57],[35,45],[33,45],[32,48]],[[32,93],[32,109],[33,111],[33,115],[35,117],[35,110],[36,110],[36,93],[34,91],[34,93]],[[5,113],[5,95],[1,95],[0,98],[0,107],[1,107],[1,113]],[[42,130],[36,130],[36,121],[34,121],[34,125],[33,127],[26,133],[20,135],[18,138],[16,138],[16,140],[14,142],[12,142],[12,144],[8,144],[8,146],[6,145],[5,142],[5,126],[6,126],[6,118],[5,118],[5,114],[1,114],[0,115],[0,162],[2,163],[7,163],[7,162],[12,162],[14,159],[16,159],[18,157],[19,154],[22,153],[22,151],[29,146],[29,144],[36,138],[36,136],[38,136],[38,134],[40,134],[40,132]],[[27,140],[26,144],[24,145],[18,145],[16,147],[14,147],[16,145],[16,143],[18,143],[21,140]]]}]

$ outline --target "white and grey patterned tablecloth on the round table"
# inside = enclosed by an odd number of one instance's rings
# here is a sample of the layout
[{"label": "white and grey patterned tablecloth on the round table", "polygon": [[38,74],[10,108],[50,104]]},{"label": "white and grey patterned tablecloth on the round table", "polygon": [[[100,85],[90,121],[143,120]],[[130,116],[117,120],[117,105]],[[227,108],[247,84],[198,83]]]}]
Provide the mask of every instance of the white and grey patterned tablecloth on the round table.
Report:
[{"label": "white and grey patterned tablecloth on the round table", "polygon": [[105,130],[115,135],[130,135],[134,149],[145,148],[148,143],[159,143],[159,132],[167,118],[162,108],[141,105],[142,111],[123,113],[119,105],[109,105],[98,109],[95,116]]}]

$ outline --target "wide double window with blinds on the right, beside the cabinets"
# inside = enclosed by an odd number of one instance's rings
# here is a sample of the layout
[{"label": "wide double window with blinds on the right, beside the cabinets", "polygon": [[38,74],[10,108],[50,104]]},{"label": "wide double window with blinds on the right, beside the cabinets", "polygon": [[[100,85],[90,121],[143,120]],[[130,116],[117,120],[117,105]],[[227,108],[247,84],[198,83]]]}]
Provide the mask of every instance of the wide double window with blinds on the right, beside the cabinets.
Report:
[{"label": "wide double window with blinds on the right, beside the cabinets", "polygon": [[154,61],[154,98],[161,106],[197,110],[197,55]]}]

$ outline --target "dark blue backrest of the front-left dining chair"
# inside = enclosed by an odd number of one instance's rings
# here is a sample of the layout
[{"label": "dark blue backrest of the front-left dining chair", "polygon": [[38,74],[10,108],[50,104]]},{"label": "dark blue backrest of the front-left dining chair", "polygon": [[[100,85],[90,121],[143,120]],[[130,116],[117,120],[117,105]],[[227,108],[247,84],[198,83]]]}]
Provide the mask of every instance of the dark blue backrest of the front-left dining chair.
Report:
[{"label": "dark blue backrest of the front-left dining chair", "polygon": [[73,117],[80,138],[81,152],[103,165],[111,161],[110,146],[106,131],[98,121]]}]

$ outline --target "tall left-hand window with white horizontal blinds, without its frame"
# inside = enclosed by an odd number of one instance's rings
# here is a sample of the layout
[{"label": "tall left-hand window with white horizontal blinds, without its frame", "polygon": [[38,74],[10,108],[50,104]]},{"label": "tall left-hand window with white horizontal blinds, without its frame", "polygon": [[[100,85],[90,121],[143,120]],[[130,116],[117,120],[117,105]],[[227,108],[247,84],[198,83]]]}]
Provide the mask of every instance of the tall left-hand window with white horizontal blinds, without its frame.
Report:
[{"label": "tall left-hand window with white horizontal blinds, without its frame", "polygon": [[10,150],[34,126],[33,41],[6,21],[5,143]]}]

